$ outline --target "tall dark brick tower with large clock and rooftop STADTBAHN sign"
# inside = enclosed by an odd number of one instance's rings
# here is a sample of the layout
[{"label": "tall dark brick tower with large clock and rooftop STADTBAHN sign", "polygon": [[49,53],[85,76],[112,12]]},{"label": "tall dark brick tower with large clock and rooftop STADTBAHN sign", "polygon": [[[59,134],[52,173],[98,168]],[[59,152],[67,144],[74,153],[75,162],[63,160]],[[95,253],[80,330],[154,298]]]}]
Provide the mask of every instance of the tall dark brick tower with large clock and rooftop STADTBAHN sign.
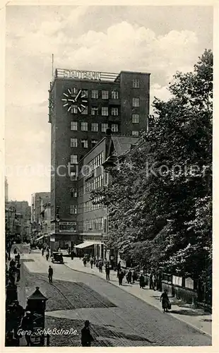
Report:
[{"label": "tall dark brick tower with large clock and rooftop STADTBAHN sign", "polygon": [[[105,137],[146,131],[150,73],[56,69],[49,89],[51,123],[51,238],[79,239],[78,162]],[[54,244],[56,247],[57,244]]]}]

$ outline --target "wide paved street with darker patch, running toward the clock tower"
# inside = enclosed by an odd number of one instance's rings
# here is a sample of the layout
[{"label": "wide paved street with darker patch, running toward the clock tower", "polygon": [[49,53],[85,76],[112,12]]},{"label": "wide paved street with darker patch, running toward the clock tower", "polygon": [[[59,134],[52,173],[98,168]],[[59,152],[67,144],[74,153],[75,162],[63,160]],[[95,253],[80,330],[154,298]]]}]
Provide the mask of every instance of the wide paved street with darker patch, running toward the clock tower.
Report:
[{"label": "wide paved street with darker patch, running toward the clock tower", "polygon": [[[20,246],[19,246],[20,247]],[[20,249],[21,250],[21,249]],[[18,297],[26,297],[39,286],[48,298],[45,328],[73,328],[78,335],[52,335],[51,346],[81,346],[81,328],[90,321],[93,346],[204,346],[211,337],[168,313],[150,306],[100,277],[79,273],[65,264],[47,262],[39,251],[23,251]],[[52,265],[53,283],[47,270]],[[124,283],[127,286],[127,284]]]}]

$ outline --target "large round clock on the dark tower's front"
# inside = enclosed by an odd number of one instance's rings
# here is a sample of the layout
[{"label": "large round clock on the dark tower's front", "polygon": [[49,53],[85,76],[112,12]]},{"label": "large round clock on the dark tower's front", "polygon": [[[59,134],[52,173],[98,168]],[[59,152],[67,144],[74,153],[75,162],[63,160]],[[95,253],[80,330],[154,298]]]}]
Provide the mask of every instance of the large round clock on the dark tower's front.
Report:
[{"label": "large round clock on the dark tower's front", "polygon": [[63,107],[67,107],[68,112],[82,113],[88,106],[88,93],[85,90],[69,88],[63,95]]}]

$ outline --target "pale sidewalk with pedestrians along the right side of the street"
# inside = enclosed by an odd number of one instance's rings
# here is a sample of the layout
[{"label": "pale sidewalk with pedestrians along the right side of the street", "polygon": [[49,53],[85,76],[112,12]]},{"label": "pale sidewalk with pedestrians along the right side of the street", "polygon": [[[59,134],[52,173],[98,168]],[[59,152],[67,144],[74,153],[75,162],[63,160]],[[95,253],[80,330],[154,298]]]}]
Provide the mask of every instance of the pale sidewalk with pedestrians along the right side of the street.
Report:
[{"label": "pale sidewalk with pedestrians along the right side of the street", "polygon": [[[95,266],[93,266],[93,269],[91,269],[90,263],[87,263],[87,266],[85,267],[83,265],[83,261],[79,258],[74,258],[73,260],[71,260],[71,258],[69,257],[64,257],[64,263],[67,267],[71,268],[72,270],[76,270],[82,273],[88,273],[90,275],[95,275],[97,277],[102,278],[103,280],[106,280],[105,268],[103,268],[102,273],[100,273]],[[110,271],[109,282],[112,285],[116,285],[120,289],[129,292],[130,294],[134,295],[134,297],[146,301],[147,304],[150,304],[152,306],[155,306],[159,310],[162,310],[160,304],[160,292],[153,291],[152,289],[149,289],[148,286],[146,286],[145,289],[140,289],[138,282],[136,282],[134,285],[127,285],[125,278],[123,280],[123,285],[119,286],[117,273],[112,270]],[[182,301],[171,297],[170,301],[172,303],[172,310],[167,313],[167,315],[174,316],[174,318],[177,318],[180,321],[184,321],[185,323],[193,326],[194,328],[203,331],[203,333],[211,335],[211,313],[205,313],[203,309],[194,309],[191,305],[184,304]]]}]

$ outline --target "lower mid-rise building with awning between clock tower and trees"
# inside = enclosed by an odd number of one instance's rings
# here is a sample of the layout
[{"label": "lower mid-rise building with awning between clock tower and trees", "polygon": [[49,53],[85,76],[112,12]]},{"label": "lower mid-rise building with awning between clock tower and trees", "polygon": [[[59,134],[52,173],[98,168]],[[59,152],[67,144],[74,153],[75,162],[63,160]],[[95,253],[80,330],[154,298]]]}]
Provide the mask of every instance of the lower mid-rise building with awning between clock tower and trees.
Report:
[{"label": "lower mid-rise building with awning between clock tower and trees", "polygon": [[76,245],[78,251],[109,259],[110,253],[105,248],[107,208],[103,207],[100,198],[92,201],[90,196],[93,191],[109,183],[110,176],[105,172],[105,167],[112,166],[129,153],[138,140],[137,137],[113,136],[109,133],[79,162],[77,225],[83,243]]}]

